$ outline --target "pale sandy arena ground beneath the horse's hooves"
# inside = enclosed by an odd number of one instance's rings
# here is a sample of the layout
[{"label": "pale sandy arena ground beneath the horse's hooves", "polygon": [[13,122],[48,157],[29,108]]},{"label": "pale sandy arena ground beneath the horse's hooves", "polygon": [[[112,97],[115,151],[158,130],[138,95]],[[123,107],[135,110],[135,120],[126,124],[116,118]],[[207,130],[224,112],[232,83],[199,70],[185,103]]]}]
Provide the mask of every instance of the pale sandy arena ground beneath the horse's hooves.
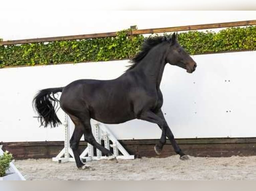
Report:
[{"label": "pale sandy arena ground beneath the horse's hooves", "polygon": [[58,164],[51,159],[17,160],[15,165],[26,180],[256,180],[256,156],[189,158],[91,161],[84,170],[75,162]]}]

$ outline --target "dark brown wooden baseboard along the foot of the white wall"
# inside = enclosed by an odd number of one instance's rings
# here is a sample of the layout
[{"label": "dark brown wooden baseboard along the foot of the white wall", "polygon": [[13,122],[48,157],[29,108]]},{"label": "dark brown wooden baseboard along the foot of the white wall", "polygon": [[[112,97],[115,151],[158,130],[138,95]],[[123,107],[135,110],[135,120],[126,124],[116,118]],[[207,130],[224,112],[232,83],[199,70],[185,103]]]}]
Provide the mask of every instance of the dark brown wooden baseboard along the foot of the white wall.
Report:
[{"label": "dark brown wooden baseboard along the foot of the white wall", "polygon": [[[221,156],[252,156],[256,155],[256,137],[247,138],[184,138],[176,139],[181,149],[192,156],[221,157]],[[163,147],[160,156],[155,154],[154,145],[159,139],[119,140],[122,146],[137,157],[166,157],[175,155],[169,141]],[[4,150],[8,150],[15,159],[25,158],[52,158],[55,157],[64,146],[64,141],[40,141],[40,142],[1,142]],[[80,153],[87,143],[80,141]]]}]

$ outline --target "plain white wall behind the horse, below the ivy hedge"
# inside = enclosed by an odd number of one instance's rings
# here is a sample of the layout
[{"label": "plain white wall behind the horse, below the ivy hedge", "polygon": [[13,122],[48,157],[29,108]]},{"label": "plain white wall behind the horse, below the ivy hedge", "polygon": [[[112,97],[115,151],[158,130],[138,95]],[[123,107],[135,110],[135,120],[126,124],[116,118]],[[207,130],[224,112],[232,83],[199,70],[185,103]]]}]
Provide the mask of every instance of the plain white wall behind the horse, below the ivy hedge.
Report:
[{"label": "plain white wall behind the horse, below the ivy hedge", "polygon": [[[256,51],[193,56],[198,64],[193,74],[166,65],[162,110],[175,137],[255,137],[255,57]],[[125,60],[0,69],[0,141],[63,140],[62,126],[39,127],[33,118],[35,93],[77,79],[114,79],[127,65]],[[63,111],[57,114],[63,121]],[[157,125],[141,120],[108,126],[119,139],[161,134]]]}]

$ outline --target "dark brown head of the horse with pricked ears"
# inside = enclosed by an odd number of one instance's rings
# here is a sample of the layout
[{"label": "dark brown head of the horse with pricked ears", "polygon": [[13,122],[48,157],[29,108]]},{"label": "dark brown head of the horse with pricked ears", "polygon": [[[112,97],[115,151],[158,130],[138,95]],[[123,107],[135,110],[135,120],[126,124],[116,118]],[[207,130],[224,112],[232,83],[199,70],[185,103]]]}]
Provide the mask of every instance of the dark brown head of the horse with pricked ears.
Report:
[{"label": "dark brown head of the horse with pricked ears", "polygon": [[184,68],[188,73],[193,73],[196,70],[197,63],[179,45],[175,33],[173,33],[169,42],[170,43],[167,49],[166,62],[171,65]]}]

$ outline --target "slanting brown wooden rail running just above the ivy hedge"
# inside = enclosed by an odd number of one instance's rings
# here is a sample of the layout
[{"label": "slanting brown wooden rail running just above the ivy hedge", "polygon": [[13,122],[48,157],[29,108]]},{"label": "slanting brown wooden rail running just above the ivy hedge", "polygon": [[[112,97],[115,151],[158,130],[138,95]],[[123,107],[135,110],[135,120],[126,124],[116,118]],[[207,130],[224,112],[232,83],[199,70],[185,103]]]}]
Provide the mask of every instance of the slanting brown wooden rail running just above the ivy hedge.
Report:
[{"label": "slanting brown wooden rail running just above the ivy hedge", "polygon": [[[224,28],[224,27],[239,27],[239,26],[248,26],[248,25],[256,25],[256,20],[132,30],[132,31],[128,32],[128,35],[165,33],[165,32],[189,31],[189,30],[200,30],[200,29],[214,29],[214,28]],[[53,41],[81,40],[81,39],[115,37],[115,36],[117,36],[117,32],[2,41],[2,42],[0,42],[0,45],[15,45],[15,44],[53,42]]]}]

